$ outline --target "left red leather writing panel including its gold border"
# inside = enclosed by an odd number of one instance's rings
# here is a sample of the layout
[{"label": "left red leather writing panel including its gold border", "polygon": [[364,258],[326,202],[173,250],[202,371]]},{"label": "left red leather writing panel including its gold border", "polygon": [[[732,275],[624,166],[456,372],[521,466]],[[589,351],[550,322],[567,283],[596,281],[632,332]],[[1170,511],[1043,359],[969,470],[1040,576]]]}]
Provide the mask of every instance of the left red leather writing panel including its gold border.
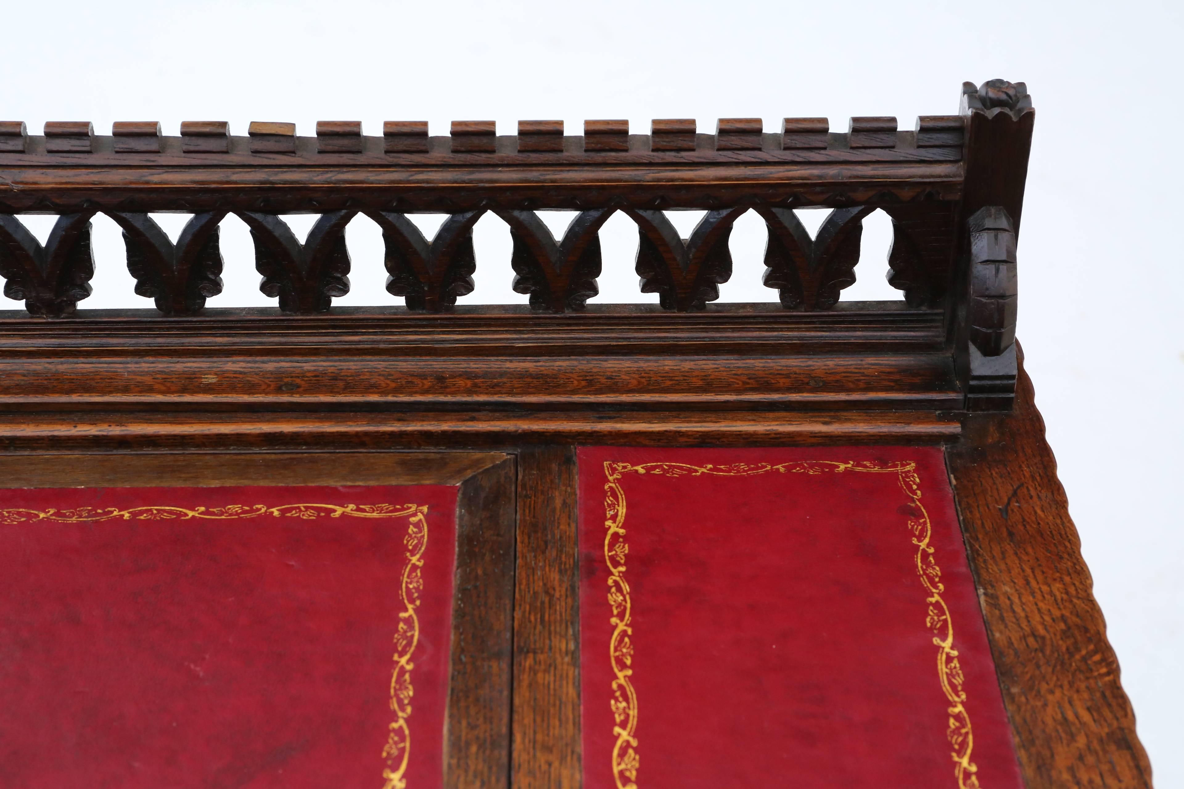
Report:
[{"label": "left red leather writing panel including its gold border", "polygon": [[0,785],[440,787],[455,509],[0,491]]}]

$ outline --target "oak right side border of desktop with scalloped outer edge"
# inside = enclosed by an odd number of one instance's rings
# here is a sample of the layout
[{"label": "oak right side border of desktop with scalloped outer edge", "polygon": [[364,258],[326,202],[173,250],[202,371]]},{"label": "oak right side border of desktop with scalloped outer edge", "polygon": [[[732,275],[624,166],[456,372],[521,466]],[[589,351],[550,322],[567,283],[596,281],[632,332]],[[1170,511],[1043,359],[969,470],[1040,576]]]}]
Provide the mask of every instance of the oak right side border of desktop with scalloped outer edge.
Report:
[{"label": "oak right side border of desktop with scalloped outer edge", "polygon": [[946,458],[1028,788],[1150,787],[1022,367],[1014,413],[967,418]]}]

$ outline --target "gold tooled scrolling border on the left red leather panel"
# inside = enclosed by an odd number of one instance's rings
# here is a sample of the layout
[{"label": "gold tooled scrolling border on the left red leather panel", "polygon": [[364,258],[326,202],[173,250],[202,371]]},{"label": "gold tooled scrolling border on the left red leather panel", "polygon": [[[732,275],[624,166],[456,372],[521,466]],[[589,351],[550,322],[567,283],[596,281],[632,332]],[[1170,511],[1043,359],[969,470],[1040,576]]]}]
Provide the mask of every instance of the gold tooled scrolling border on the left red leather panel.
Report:
[{"label": "gold tooled scrolling border on the left red leather panel", "polygon": [[394,634],[394,671],[391,674],[391,711],[394,720],[390,725],[387,743],[382,748],[386,768],[382,770],[382,789],[406,789],[403,777],[407,771],[411,756],[411,729],[407,717],[411,714],[411,670],[414,664],[411,657],[419,644],[419,617],[416,609],[424,589],[420,568],[424,565],[424,551],[427,549],[427,507],[418,504],[283,504],[266,506],[265,504],[231,504],[223,507],[179,506],[137,506],[127,510],[118,507],[75,507],[71,510],[27,510],[21,507],[0,510],[0,524],[18,523],[88,523],[96,520],[191,520],[195,518],[213,520],[234,520],[259,516],[301,518],[407,518],[407,536],[404,545],[407,548],[407,562],[403,567],[399,583],[399,602],[404,609],[399,612],[399,628]]}]

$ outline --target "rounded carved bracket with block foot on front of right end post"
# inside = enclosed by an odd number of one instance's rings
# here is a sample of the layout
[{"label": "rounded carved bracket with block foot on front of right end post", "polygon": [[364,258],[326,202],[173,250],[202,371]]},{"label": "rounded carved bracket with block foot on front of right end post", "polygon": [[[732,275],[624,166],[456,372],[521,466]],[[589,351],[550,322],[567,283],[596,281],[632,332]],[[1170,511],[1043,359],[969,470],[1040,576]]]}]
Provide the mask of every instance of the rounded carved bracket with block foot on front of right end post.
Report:
[{"label": "rounded carved bracket with block foot on front of right end post", "polygon": [[1010,410],[1016,392],[1016,233],[986,206],[970,218],[970,410]]}]

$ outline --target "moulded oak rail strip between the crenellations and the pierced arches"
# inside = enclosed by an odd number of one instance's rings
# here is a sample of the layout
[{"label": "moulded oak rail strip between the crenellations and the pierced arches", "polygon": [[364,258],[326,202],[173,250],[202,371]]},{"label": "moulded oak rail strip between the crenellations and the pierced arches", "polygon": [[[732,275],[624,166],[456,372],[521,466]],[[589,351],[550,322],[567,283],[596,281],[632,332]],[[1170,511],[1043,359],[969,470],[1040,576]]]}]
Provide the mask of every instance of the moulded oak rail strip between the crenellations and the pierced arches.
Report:
[{"label": "moulded oak rail strip between the crenellations and the pierced arches", "polygon": [[[282,142],[292,140],[282,135],[275,137]],[[272,144],[271,138],[266,136],[266,144]],[[232,150],[237,140],[231,137]],[[259,142],[255,144],[263,144],[265,137],[256,140]],[[295,140],[295,154],[256,153],[246,155],[245,160],[227,155],[227,161],[219,166],[210,161],[219,156],[214,153],[200,156],[179,153],[175,157],[161,154],[163,161],[135,167],[128,167],[131,159],[149,154],[112,153],[109,161],[101,154],[52,154],[49,155],[52,161],[41,162],[31,154],[0,153],[0,177],[11,185],[0,194],[0,211],[46,212],[46,201],[52,201],[62,212],[92,207],[197,213],[215,211],[227,203],[242,211],[278,213],[320,213],[347,207],[363,211],[406,207],[455,213],[482,207],[530,209],[540,205],[583,211],[622,202],[649,209],[714,209],[757,200],[792,199],[794,205],[831,206],[908,201],[929,194],[941,200],[957,200],[963,189],[961,162],[931,155],[947,150],[942,148],[900,151],[902,159],[896,161],[861,160],[862,151],[805,149],[722,154],[659,151],[639,156],[641,161],[622,162],[607,160],[635,154],[491,153],[450,154],[452,159],[443,162],[408,162],[395,167],[386,161],[395,154],[380,153],[375,154],[382,157],[380,161],[348,166],[333,160],[350,154],[316,154],[316,137]],[[310,149],[307,163],[298,161],[302,140],[308,141]],[[165,144],[168,150],[167,138]],[[842,159],[839,154],[850,157]],[[726,159],[700,159],[720,155]],[[883,155],[869,154],[870,157]],[[31,161],[11,161],[17,156]],[[78,156],[94,159],[75,161]],[[649,156],[677,159],[649,161]],[[277,161],[253,161],[262,157]],[[580,160],[588,160],[588,166]]]}]

